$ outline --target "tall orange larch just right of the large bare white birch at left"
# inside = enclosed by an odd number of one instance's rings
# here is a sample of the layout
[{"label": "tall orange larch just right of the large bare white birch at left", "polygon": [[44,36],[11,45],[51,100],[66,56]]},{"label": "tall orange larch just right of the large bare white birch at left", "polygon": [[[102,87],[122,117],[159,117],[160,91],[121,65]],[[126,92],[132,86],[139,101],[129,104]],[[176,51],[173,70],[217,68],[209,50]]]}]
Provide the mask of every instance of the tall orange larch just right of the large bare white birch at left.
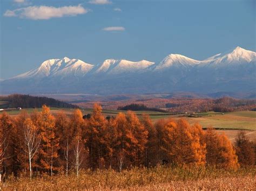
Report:
[{"label": "tall orange larch just right of the large bare white birch at left", "polygon": [[40,115],[40,136],[42,138],[42,145],[39,150],[40,159],[39,166],[42,171],[51,173],[57,172],[59,167],[57,165],[59,138],[56,136],[55,118],[50,113],[50,108],[43,105]]}]

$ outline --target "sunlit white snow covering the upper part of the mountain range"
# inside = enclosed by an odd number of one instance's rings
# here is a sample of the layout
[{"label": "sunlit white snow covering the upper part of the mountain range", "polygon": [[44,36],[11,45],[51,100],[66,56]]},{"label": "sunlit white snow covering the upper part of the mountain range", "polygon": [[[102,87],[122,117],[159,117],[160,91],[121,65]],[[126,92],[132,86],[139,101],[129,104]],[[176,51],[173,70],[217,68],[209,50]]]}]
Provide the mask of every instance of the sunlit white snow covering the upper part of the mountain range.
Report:
[{"label": "sunlit white snow covering the upper part of the mountain range", "polygon": [[[216,54],[204,61],[198,61],[188,58],[180,54],[169,54],[160,63],[154,63],[147,60],[129,61],[129,60],[115,60],[107,59],[99,65],[91,65],[82,60],[70,59],[64,57],[62,59],[50,59],[44,61],[38,68],[32,69],[29,72],[12,77],[12,79],[19,78],[35,78],[42,79],[44,77],[71,77],[71,76],[85,76],[89,74],[124,74],[137,73],[145,70],[161,71],[167,69],[174,69],[174,71],[187,71],[192,67],[209,67],[216,69],[218,67],[228,67],[229,65],[240,66],[245,63],[255,63],[256,53],[248,51],[241,47],[235,47],[231,51]],[[168,70],[170,71],[170,70]],[[91,75],[90,75],[91,76]]]}]

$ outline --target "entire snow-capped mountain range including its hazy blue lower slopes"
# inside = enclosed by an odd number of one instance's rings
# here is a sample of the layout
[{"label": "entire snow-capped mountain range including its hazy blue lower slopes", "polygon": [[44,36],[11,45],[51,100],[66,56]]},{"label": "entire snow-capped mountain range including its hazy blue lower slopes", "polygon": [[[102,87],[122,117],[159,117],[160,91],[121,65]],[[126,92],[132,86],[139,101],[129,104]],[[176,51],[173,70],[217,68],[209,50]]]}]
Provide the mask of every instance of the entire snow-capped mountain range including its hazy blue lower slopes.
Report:
[{"label": "entire snow-capped mountain range including its hazy blue lower slopes", "polygon": [[241,47],[198,61],[180,54],[161,62],[108,59],[92,65],[51,59],[0,81],[1,93],[142,94],[173,91],[255,92],[256,53]]}]

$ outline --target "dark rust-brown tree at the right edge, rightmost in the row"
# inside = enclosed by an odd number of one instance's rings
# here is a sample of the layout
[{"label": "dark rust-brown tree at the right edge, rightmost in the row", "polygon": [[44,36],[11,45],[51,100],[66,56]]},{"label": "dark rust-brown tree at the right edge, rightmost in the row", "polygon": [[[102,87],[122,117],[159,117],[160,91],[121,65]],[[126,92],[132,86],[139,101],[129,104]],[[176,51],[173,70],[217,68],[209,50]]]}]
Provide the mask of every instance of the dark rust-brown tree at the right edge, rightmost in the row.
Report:
[{"label": "dark rust-brown tree at the right edge, rightmost in the row", "polygon": [[250,166],[255,164],[253,142],[250,142],[246,137],[244,130],[241,130],[235,139],[235,151],[240,165]]}]

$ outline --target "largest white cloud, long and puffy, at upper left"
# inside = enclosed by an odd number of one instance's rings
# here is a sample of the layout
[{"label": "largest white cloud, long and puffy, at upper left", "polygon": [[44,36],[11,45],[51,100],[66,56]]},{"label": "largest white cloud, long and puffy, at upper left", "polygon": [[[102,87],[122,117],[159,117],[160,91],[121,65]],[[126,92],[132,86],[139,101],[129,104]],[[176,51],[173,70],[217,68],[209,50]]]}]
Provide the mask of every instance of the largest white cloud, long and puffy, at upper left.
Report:
[{"label": "largest white cloud, long and puffy, at upper left", "polygon": [[56,8],[54,6],[28,6],[15,10],[7,10],[4,13],[5,17],[19,17],[33,20],[50,19],[54,17],[77,16],[87,13],[89,10],[81,5],[77,6],[62,6]]}]

